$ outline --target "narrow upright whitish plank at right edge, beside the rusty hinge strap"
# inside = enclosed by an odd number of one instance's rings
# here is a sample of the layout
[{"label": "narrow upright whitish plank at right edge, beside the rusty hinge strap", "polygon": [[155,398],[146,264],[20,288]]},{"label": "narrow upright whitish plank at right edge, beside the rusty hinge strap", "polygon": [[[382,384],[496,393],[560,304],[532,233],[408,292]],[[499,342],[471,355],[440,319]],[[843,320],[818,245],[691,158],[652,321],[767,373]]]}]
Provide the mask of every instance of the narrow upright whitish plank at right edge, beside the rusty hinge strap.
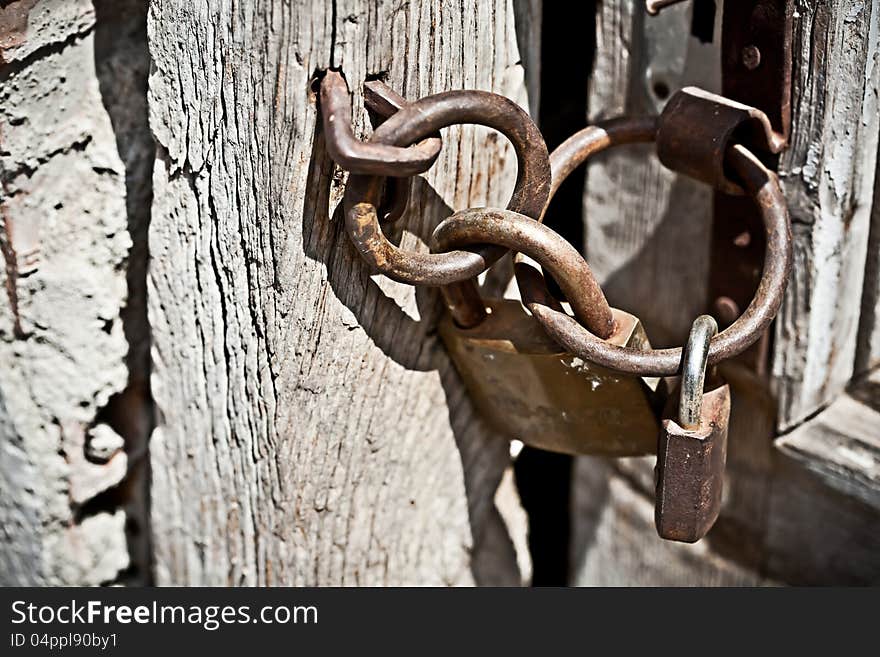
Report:
[{"label": "narrow upright whitish plank at right edge, beside the rusty hinge strap", "polygon": [[880,6],[802,0],[796,11],[780,163],[795,266],[773,363],[783,430],[831,402],[855,369],[880,128]]}]

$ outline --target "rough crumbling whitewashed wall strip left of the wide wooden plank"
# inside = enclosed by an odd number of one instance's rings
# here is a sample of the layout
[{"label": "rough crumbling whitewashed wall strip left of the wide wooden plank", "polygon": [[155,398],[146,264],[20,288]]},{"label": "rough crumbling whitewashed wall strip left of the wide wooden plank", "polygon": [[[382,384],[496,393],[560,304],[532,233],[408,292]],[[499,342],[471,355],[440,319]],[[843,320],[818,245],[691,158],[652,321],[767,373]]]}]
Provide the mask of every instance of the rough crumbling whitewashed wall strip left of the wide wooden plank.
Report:
[{"label": "rough crumbling whitewashed wall strip left of the wide wooden plank", "polygon": [[145,15],[143,0],[0,7],[4,585],[146,576]]}]

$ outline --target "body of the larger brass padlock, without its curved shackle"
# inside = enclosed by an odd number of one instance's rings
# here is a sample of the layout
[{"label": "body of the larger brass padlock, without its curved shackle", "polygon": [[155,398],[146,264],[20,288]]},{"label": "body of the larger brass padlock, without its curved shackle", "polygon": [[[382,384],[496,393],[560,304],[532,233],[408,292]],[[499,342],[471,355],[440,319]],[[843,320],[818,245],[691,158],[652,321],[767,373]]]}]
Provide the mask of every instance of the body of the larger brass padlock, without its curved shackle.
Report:
[{"label": "body of the larger brass padlock, without its curved shackle", "polygon": [[[559,349],[519,301],[487,304],[489,316],[439,330],[477,409],[523,443],[566,454],[637,456],[657,447],[657,379],[620,374]],[[614,310],[609,342],[648,348],[641,322]],[[660,403],[662,408],[662,402]]]}]

